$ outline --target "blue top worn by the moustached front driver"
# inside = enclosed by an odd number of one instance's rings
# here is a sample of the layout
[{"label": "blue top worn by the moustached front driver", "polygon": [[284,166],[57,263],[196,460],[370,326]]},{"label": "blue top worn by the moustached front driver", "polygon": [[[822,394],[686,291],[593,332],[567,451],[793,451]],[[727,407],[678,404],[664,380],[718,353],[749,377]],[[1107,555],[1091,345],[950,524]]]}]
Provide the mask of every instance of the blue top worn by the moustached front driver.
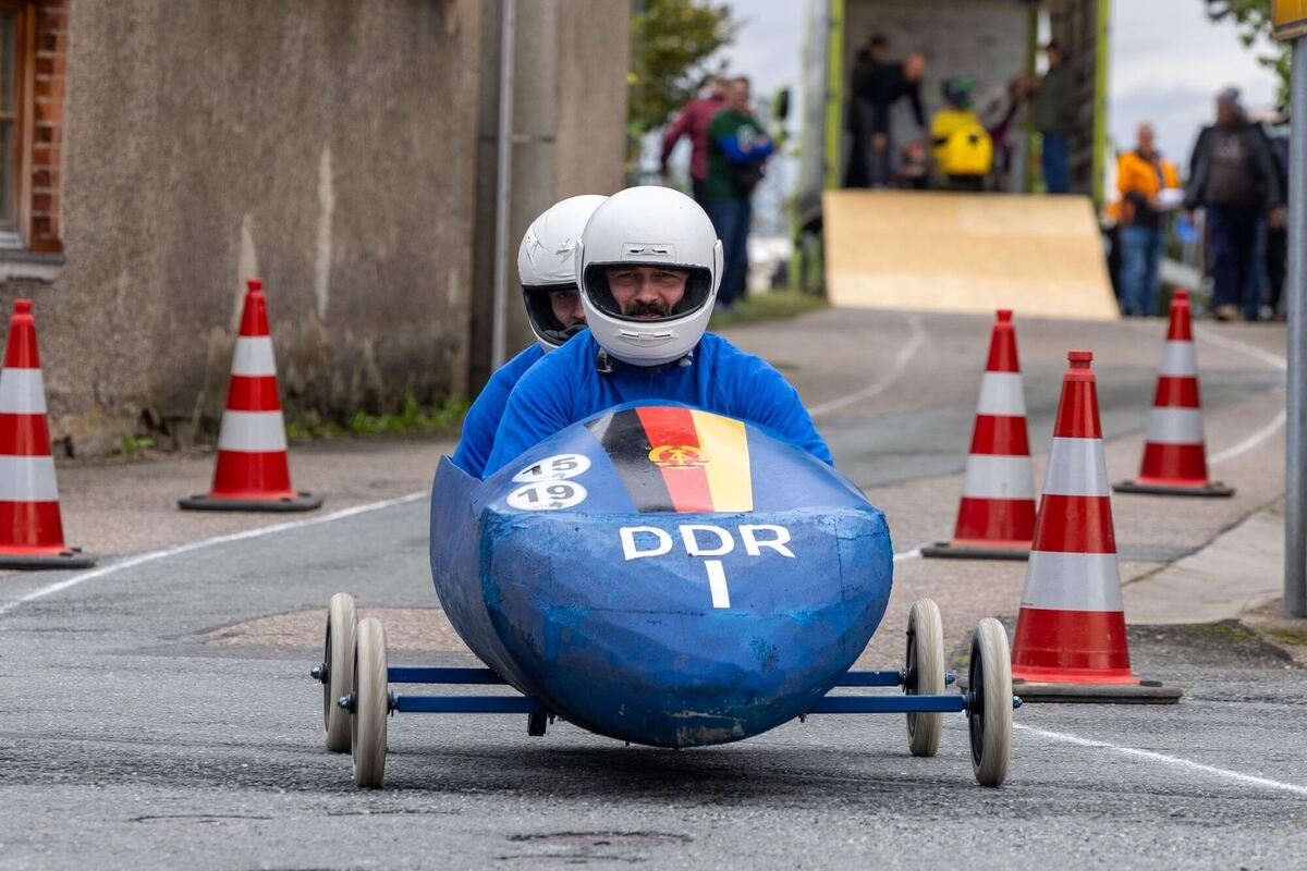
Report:
[{"label": "blue top worn by the moustached front driver", "polygon": [[614,405],[640,400],[684,402],[748,420],[835,465],[799,392],[766,360],[720,336],[704,333],[689,366],[617,363],[605,375],[595,366],[599,350],[599,342],[586,330],[518,381],[482,477],[489,478],[563,427]]}]

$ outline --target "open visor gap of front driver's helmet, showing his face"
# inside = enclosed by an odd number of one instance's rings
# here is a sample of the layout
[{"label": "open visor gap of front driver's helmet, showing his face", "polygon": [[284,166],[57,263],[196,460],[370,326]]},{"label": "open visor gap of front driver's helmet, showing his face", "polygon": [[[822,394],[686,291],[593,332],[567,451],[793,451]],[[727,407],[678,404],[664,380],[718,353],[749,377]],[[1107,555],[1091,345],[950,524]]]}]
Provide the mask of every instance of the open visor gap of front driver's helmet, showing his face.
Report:
[{"label": "open visor gap of front driver's helmet, showing his face", "polygon": [[584,293],[595,308],[620,320],[678,320],[708,303],[712,274],[680,264],[596,262],[586,266]]}]

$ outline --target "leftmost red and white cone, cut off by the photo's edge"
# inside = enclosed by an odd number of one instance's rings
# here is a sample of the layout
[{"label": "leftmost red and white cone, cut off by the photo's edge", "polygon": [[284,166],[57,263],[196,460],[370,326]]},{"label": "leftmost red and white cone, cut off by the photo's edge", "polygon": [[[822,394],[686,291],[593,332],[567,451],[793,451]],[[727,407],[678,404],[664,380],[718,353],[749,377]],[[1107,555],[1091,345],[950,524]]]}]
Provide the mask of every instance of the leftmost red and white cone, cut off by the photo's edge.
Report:
[{"label": "leftmost red and white cone, cut off by the photo's edge", "polygon": [[86,568],[64,543],[31,300],[13,303],[0,370],[0,568]]}]

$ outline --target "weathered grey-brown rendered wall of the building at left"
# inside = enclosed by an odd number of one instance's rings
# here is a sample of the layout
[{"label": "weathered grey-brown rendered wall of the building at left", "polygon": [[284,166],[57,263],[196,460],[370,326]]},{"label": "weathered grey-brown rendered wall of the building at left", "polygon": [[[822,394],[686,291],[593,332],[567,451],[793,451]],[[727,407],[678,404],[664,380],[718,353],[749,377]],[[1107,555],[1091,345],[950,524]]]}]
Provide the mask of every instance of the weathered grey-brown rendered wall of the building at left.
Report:
[{"label": "weathered grey-brown rendered wall of the building at left", "polygon": [[[58,1],[63,261],[0,252],[0,304],[37,300],[56,441],[210,440],[254,276],[290,417],[474,390],[498,3]],[[519,9],[515,112],[538,148],[515,155],[514,252],[555,191],[620,184],[629,21],[603,0]],[[559,146],[587,93],[604,133]]]}]

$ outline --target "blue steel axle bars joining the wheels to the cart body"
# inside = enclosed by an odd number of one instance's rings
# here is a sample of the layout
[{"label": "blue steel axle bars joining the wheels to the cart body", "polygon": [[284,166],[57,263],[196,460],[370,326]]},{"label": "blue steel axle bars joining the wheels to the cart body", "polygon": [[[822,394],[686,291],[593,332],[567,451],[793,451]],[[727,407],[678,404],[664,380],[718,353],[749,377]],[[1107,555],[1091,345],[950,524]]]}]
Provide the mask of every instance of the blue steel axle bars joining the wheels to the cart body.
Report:
[{"label": "blue steel axle bars joining the wheels to the cart body", "polygon": [[[506,686],[490,669],[451,669],[433,666],[391,666],[388,683]],[[945,682],[953,683],[949,673]],[[901,687],[902,671],[848,671],[836,687]],[[958,713],[967,709],[968,693],[938,696],[826,696],[813,705],[810,714],[903,714]],[[527,696],[405,696],[393,695],[391,709],[405,713],[439,714],[549,714],[550,710]]]}]

